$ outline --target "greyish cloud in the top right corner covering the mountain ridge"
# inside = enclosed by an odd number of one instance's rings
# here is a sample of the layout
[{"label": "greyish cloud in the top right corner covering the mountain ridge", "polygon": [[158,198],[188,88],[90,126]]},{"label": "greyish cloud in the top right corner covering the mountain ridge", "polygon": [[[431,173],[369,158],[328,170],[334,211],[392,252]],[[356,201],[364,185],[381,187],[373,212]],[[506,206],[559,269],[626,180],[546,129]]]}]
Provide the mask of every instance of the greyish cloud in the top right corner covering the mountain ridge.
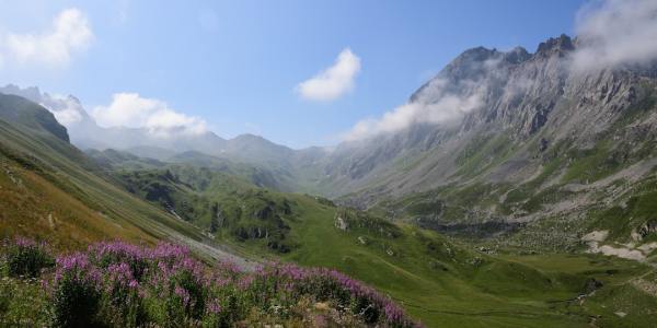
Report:
[{"label": "greyish cloud in the top right corner covering the mountain ridge", "polygon": [[573,57],[575,69],[657,59],[657,1],[593,1],[578,12],[576,31],[581,44]]}]

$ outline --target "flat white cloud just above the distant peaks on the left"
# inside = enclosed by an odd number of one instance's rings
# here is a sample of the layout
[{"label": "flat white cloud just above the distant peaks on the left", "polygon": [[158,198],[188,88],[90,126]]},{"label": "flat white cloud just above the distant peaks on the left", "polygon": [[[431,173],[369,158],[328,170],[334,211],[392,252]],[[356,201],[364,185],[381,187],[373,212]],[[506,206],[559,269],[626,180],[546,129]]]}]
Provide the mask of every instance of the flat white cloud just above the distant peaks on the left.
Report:
[{"label": "flat white cloud just above the distant peaks on the left", "polygon": [[137,93],[117,93],[108,106],[97,106],[92,116],[101,127],[145,128],[153,137],[197,136],[207,131],[205,120],[173,110],[166,103]]}]

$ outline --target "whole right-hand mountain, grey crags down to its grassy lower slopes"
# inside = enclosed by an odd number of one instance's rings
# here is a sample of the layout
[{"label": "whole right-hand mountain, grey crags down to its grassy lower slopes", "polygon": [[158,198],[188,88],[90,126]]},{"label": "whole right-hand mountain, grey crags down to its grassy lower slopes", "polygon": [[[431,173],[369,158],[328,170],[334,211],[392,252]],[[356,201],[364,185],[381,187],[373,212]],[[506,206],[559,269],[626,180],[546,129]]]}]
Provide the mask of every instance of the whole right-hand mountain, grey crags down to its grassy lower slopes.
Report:
[{"label": "whole right-hand mountain, grey crags down to its grassy lower slopes", "polygon": [[[649,245],[654,218],[611,223],[600,213],[657,201],[657,66],[580,71],[570,61],[579,43],[562,35],[534,54],[463,52],[411,96],[425,120],[339,145],[323,162],[320,190],[426,227],[511,222],[541,234],[535,222],[550,219],[574,227],[548,244],[573,247],[612,230],[623,233],[608,242]],[[475,105],[431,124],[446,98]]]}]

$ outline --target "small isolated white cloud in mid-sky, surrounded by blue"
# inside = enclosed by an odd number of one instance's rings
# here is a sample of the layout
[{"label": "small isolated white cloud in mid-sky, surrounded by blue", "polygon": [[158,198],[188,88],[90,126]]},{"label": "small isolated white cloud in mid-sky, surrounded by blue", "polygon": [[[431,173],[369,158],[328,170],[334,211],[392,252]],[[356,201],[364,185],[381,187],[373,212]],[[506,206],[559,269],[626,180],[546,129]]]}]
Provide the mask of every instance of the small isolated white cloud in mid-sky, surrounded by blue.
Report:
[{"label": "small isolated white cloud in mid-sky, surrounded by blue", "polygon": [[360,58],[346,48],[339,52],[332,67],[299,83],[295,91],[310,101],[333,101],[354,89],[354,79],[359,71]]}]

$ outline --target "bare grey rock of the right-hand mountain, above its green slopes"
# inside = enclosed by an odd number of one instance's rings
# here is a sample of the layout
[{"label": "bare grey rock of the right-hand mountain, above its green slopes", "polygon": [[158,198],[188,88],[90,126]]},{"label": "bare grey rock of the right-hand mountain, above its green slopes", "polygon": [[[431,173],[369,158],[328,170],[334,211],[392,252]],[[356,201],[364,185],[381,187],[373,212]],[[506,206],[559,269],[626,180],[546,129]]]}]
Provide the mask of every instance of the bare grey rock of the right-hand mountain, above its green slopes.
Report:
[{"label": "bare grey rock of the right-hand mountain, above its green slopes", "polygon": [[[534,54],[522,48],[464,51],[410,103],[477,95],[480,106],[457,122],[419,121],[397,133],[341,144],[324,160],[326,194],[349,194],[348,203],[367,207],[384,197],[464,183],[454,160],[476,136],[505,137],[516,150],[495,167],[474,172],[482,181],[515,183],[538,174],[537,152],[560,142],[591,148],[629,108],[655,92],[657,65],[574,70],[570,55],[577,44],[561,35],[541,43]],[[653,118],[618,136],[619,141],[654,138]]]}]

